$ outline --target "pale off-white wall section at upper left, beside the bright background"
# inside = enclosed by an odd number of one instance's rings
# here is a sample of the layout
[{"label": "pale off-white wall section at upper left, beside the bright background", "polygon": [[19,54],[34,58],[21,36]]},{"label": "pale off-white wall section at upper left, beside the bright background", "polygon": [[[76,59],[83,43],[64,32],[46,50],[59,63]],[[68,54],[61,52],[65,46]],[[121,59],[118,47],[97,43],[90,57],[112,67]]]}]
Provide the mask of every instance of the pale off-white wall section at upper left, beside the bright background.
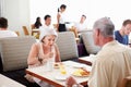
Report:
[{"label": "pale off-white wall section at upper left, beside the bright background", "polygon": [[22,26],[29,27],[29,0],[3,0],[3,14],[9,21],[9,29],[23,34]]}]

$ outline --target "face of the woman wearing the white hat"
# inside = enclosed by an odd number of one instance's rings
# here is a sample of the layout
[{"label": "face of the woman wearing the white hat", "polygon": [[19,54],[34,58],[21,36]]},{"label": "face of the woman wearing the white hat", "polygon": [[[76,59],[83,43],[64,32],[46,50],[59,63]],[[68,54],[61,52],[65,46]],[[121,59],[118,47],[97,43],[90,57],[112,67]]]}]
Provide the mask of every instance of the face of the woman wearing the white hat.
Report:
[{"label": "face of the woman wearing the white hat", "polygon": [[45,46],[52,46],[55,44],[56,40],[56,36],[55,35],[48,35],[45,36],[45,38],[43,39],[43,42]]}]

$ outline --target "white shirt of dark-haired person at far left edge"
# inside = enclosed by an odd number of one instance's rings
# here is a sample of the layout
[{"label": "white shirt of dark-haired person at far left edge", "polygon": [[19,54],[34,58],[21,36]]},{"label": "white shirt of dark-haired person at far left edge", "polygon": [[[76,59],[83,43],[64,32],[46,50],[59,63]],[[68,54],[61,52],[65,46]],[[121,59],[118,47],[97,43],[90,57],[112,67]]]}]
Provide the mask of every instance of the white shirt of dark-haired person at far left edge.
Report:
[{"label": "white shirt of dark-haired person at far left edge", "polygon": [[0,30],[0,38],[4,37],[17,37],[17,35],[12,30]]}]

